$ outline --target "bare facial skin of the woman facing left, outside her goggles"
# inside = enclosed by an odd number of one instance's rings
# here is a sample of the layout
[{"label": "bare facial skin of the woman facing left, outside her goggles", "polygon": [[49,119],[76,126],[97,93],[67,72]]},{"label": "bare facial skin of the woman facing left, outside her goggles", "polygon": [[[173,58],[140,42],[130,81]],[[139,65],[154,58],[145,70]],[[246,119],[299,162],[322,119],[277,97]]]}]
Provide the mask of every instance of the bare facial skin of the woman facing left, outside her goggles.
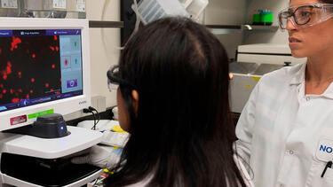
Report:
[{"label": "bare facial skin of the woman facing left, outside her goggles", "polygon": [[[322,4],[317,0],[290,0],[289,6]],[[291,18],[293,19],[293,18]],[[333,19],[328,19],[312,27],[297,28],[290,21],[286,29],[289,34],[289,48],[296,58],[321,57],[333,51]]]}]

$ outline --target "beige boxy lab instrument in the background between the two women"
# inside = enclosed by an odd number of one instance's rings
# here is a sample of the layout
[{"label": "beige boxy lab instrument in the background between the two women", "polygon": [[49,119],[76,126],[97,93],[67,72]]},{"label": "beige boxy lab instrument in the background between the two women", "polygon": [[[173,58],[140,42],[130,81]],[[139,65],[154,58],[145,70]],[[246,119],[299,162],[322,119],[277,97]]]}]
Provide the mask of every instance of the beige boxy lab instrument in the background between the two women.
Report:
[{"label": "beige boxy lab instrument in the background between the two women", "polygon": [[230,72],[233,74],[230,82],[232,112],[242,113],[251,91],[264,74],[305,61],[306,58],[292,57],[288,45],[268,43],[239,45],[236,61],[230,64]]}]

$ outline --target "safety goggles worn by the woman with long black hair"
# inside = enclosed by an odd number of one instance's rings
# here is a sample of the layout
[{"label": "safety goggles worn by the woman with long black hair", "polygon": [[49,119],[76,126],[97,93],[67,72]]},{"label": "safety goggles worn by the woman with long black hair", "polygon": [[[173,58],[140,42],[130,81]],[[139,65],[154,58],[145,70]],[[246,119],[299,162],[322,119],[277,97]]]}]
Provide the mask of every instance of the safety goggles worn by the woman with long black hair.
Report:
[{"label": "safety goggles worn by the woman with long black hair", "polygon": [[116,90],[119,85],[128,86],[128,87],[131,87],[131,89],[137,90],[134,85],[132,85],[130,82],[123,80],[120,77],[118,65],[112,66],[107,71],[107,88],[109,91],[112,91],[112,90]]}]

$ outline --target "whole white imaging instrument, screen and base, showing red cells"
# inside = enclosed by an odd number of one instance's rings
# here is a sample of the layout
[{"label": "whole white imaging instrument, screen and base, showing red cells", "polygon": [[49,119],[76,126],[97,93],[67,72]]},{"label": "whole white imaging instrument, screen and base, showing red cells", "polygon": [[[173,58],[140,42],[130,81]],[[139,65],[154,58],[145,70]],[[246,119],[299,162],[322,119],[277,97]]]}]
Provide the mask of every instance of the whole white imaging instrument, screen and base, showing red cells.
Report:
[{"label": "whole white imaging instrument, screen and base, showing red cells", "polygon": [[81,186],[97,178],[100,168],[65,158],[99,144],[98,131],[67,126],[70,134],[57,138],[4,132],[91,105],[89,21],[0,18],[0,61],[0,186]]}]

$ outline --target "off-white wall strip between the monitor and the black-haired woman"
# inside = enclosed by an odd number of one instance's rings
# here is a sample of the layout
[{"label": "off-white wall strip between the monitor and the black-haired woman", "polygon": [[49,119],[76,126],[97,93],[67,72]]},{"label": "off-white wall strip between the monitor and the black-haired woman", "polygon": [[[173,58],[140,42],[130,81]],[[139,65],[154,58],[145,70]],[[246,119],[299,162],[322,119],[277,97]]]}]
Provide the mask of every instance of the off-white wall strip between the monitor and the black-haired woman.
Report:
[{"label": "off-white wall strip between the monitor and the black-haired woman", "polygon": [[[108,2],[108,3],[107,3]],[[120,0],[86,0],[87,18],[120,20]],[[91,97],[107,97],[107,107],[116,105],[115,91],[107,90],[107,69],[117,64],[120,46],[120,28],[91,28]]]}]

